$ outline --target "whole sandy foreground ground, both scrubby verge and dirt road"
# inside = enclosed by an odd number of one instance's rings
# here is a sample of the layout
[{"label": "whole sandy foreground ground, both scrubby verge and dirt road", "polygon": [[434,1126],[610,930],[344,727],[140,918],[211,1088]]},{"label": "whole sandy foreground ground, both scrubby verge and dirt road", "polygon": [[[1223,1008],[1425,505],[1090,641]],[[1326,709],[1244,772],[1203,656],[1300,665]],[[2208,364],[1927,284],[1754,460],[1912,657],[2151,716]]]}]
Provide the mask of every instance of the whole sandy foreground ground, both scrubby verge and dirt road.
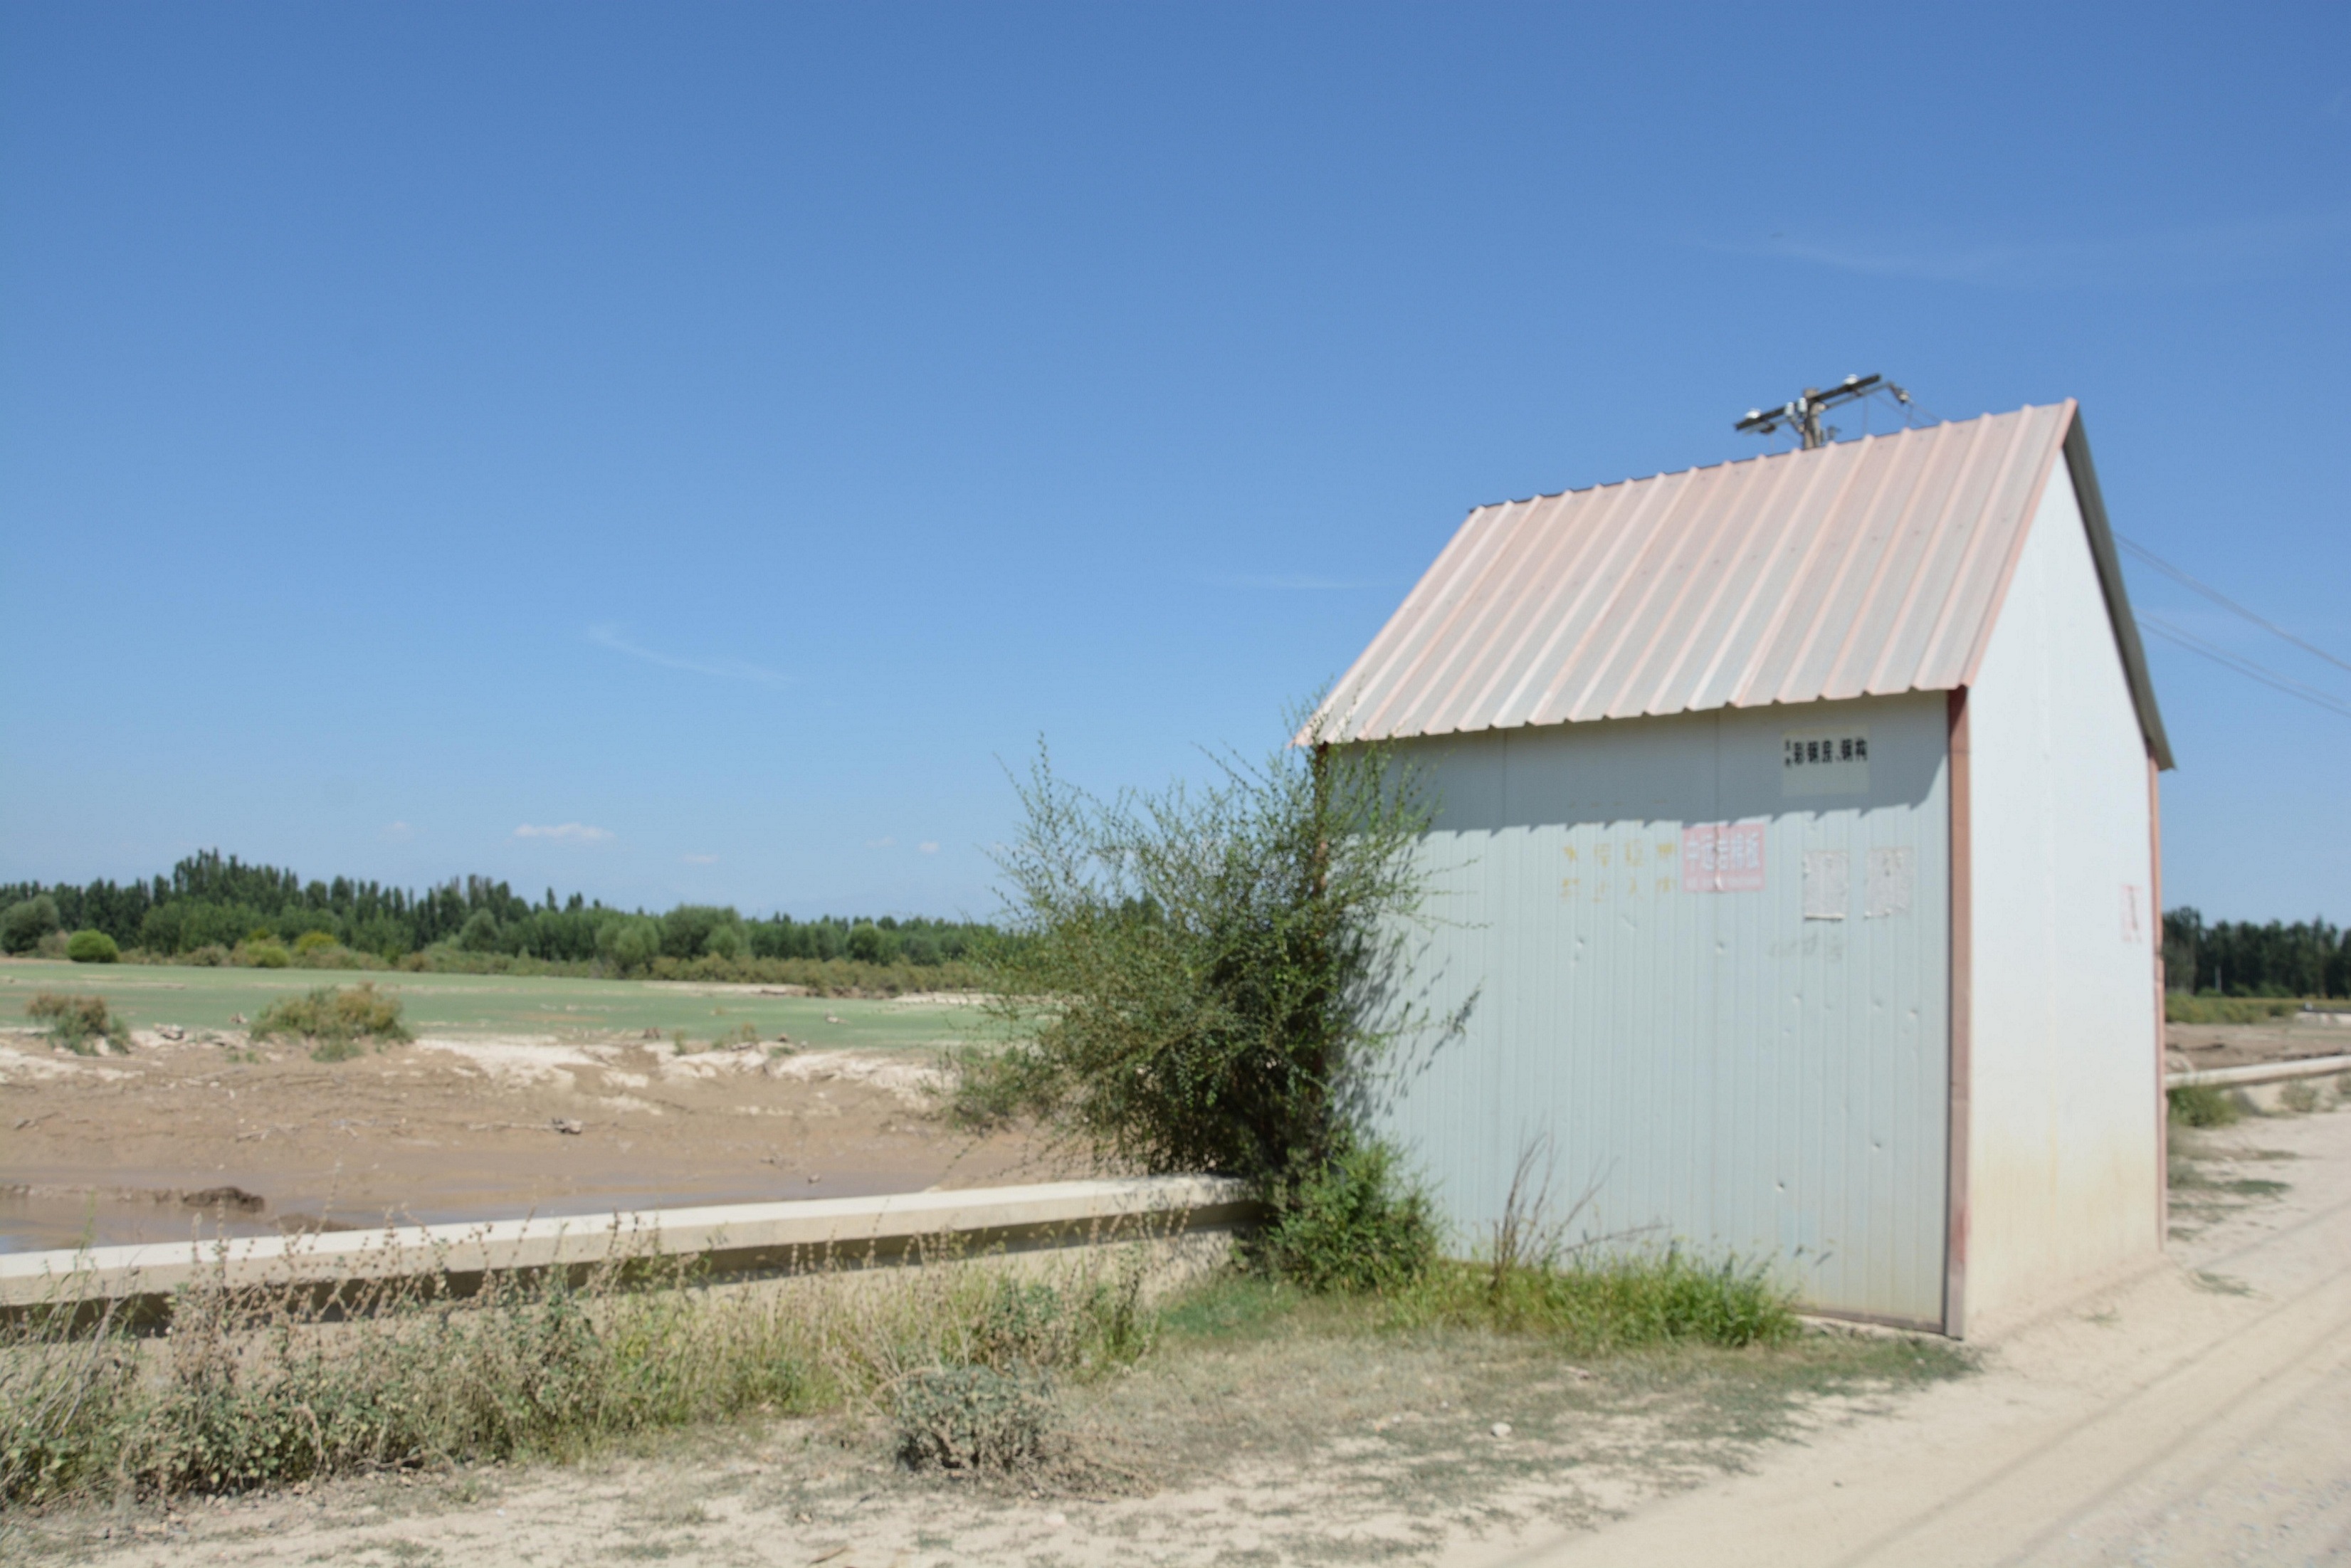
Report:
[{"label": "whole sandy foreground ground, both scrubby verge and dirt road", "polygon": [[[743,1422],[574,1467],[379,1476],[19,1523],[148,1563],[2344,1563],[2351,1112],[2182,1135],[2172,1253],[1942,1352],[1578,1366],[1483,1335],[1178,1319],[1077,1420],[1105,1486],[896,1469],[858,1422]],[[1215,1314],[1223,1314],[1218,1319]],[[1131,1483],[1131,1479],[1140,1479]]]}]

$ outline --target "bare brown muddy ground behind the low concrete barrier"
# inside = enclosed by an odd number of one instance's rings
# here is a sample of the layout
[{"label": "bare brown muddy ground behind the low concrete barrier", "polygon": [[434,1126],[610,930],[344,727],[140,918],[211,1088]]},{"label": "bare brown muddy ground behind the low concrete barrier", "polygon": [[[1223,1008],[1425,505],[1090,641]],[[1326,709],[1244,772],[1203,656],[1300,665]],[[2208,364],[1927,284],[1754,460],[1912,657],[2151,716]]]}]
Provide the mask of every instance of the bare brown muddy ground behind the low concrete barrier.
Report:
[{"label": "bare brown muddy ground behind the low concrete barrier", "polygon": [[0,1030],[0,1248],[910,1192],[1051,1175],[933,1114],[931,1056],[426,1037],[346,1063],[237,1030],[68,1056]]}]

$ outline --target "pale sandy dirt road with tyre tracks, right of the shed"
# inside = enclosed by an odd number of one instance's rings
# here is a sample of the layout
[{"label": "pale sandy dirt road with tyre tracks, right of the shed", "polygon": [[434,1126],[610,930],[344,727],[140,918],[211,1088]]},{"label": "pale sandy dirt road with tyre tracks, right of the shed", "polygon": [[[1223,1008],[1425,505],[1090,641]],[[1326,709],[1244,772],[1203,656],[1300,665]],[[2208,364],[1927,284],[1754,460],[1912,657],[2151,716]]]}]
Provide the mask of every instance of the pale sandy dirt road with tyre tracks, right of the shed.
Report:
[{"label": "pale sandy dirt road with tyre tracks, right of the shed", "polygon": [[2203,1143],[2255,1154],[2217,1164],[2222,1182],[2266,1168],[2288,1190],[1996,1338],[1982,1375],[1893,1420],[1599,1533],[1448,1563],[2351,1563],[2351,1112]]}]

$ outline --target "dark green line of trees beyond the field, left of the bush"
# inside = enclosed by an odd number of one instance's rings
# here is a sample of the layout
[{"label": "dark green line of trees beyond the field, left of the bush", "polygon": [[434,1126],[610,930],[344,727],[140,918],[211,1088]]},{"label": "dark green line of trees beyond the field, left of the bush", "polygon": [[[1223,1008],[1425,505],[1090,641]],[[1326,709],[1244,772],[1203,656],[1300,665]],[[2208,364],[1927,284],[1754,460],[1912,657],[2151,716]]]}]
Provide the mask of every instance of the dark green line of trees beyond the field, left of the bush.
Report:
[{"label": "dark green line of trees beyond the field, left of the bush", "polygon": [[[294,945],[313,933],[350,952],[397,961],[428,947],[545,961],[602,959],[647,969],[654,959],[856,959],[938,966],[969,959],[994,936],[983,922],[851,919],[825,914],[745,919],[726,905],[677,905],[665,914],[616,910],[555,889],[531,903],[491,877],[451,877],[423,893],[334,877],[303,882],[277,865],[245,865],[202,851],[146,882],[0,886],[0,945],[31,952],[52,931],[103,931],[155,957]],[[317,940],[317,938],[313,938]]]}]

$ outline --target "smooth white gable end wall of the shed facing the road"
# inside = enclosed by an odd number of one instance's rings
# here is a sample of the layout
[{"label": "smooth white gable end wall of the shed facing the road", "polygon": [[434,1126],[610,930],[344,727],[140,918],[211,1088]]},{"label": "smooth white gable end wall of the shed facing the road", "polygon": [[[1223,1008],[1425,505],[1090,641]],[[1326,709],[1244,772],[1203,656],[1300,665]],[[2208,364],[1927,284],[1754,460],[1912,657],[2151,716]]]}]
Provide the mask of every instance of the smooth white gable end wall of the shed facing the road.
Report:
[{"label": "smooth white gable end wall of the shed facing the road", "polygon": [[2062,461],[1968,731],[1977,1333],[1987,1314],[2163,1246],[2146,743]]}]

